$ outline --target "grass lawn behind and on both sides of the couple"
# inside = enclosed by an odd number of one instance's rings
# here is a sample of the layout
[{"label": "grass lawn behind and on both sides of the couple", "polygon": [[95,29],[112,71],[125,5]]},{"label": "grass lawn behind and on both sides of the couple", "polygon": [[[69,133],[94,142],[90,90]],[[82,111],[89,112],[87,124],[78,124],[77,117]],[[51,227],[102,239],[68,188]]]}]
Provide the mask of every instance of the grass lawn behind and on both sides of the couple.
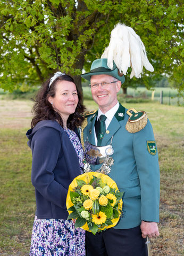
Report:
[{"label": "grass lawn behind and on both sides of the couple", "polygon": [[[29,100],[0,99],[0,255],[29,255],[35,215],[31,150],[26,131],[30,128]],[[88,110],[97,106],[85,100]],[[161,169],[160,237],[151,239],[152,256],[182,255],[182,170],[184,108],[158,103],[124,104],[145,110],[152,122]],[[136,256],[136,255],[135,255]]]}]

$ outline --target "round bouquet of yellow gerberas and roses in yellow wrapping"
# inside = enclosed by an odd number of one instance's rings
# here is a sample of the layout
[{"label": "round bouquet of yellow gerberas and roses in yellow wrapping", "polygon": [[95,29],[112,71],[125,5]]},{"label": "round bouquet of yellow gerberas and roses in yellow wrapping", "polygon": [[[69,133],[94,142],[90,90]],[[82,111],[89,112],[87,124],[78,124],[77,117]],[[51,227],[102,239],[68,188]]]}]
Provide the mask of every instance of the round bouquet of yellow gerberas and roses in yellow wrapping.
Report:
[{"label": "round bouquet of yellow gerberas and roses in yellow wrapping", "polygon": [[114,227],[121,216],[122,196],[107,175],[89,172],[76,177],[69,186],[66,207],[75,227],[92,232]]}]

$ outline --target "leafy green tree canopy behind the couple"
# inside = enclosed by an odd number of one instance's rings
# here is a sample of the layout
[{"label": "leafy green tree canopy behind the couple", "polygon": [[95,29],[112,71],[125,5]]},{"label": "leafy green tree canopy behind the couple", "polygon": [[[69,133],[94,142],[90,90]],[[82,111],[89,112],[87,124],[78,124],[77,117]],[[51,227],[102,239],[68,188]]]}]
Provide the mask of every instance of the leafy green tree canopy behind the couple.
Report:
[{"label": "leafy green tree canopy behind the couple", "polygon": [[[141,81],[166,74],[182,85],[183,9],[174,0],[0,0],[1,87],[39,84],[62,71],[81,86],[82,68],[100,58],[118,22],[132,27],[144,42],[155,72]],[[135,86],[135,81],[127,85]]]}]

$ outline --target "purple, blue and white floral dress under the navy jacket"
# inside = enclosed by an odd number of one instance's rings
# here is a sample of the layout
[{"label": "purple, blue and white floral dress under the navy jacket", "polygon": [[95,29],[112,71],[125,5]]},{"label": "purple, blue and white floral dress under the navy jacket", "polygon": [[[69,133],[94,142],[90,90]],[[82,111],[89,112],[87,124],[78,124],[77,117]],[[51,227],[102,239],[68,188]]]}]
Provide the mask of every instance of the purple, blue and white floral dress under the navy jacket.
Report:
[{"label": "purple, blue and white floral dress under the navy jacket", "polygon": [[[83,149],[74,131],[67,129],[79,158],[81,173]],[[74,228],[72,220],[37,219],[32,229],[30,256],[85,256],[85,230]]]}]

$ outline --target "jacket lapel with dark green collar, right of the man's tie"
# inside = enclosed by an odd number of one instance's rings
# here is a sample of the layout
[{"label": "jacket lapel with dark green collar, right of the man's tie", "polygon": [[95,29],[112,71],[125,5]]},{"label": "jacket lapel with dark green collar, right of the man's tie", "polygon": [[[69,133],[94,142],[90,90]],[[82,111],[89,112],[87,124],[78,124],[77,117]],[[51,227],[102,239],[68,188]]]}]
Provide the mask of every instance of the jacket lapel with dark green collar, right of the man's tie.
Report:
[{"label": "jacket lapel with dark green collar, right of the man's tie", "polygon": [[105,146],[107,143],[110,143],[108,141],[110,141],[110,139],[116,133],[116,131],[120,129],[121,125],[119,121],[124,119],[124,113],[125,108],[120,104],[118,111],[116,111],[113,119],[110,122],[110,125],[106,129],[106,133],[102,139],[101,146]]}]

